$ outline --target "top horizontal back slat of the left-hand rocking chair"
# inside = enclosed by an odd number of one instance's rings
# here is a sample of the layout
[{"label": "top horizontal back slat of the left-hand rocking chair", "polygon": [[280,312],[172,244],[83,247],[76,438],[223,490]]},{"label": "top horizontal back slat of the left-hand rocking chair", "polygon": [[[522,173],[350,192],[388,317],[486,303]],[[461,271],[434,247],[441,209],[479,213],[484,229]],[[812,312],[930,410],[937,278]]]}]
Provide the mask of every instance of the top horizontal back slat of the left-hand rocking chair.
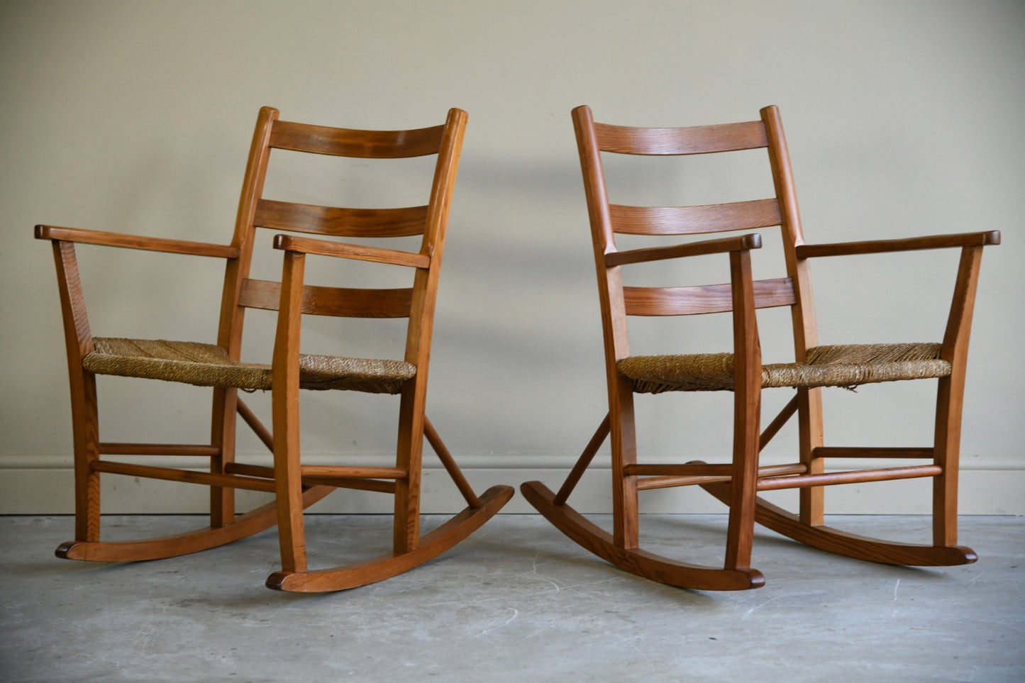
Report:
[{"label": "top horizontal back slat of the left-hand rocking chair", "polygon": [[276,121],[271,147],[363,159],[400,159],[438,154],[445,126],[414,130],[353,130]]}]

